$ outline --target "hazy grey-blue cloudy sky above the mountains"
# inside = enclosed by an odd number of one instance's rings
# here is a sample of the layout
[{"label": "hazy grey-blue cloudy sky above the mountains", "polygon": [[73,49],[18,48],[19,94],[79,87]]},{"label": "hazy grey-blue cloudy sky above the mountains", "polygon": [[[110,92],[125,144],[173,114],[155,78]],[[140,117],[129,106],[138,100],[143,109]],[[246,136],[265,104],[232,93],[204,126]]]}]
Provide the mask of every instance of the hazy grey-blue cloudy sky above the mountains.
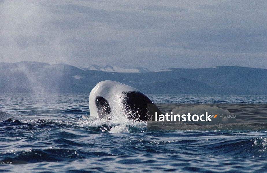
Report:
[{"label": "hazy grey-blue cloudy sky above the mountains", "polygon": [[266,0],[0,0],[0,62],[267,69],[266,9]]}]

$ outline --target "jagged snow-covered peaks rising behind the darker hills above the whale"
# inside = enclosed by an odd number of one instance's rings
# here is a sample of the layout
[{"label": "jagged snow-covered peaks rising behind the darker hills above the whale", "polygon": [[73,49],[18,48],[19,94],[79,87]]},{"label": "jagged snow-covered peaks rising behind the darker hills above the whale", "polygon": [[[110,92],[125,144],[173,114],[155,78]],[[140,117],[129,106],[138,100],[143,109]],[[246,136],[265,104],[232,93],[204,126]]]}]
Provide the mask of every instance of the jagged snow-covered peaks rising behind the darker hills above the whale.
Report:
[{"label": "jagged snow-covered peaks rising behind the darker hills above the whale", "polygon": [[91,65],[87,70],[97,70],[102,72],[118,72],[118,73],[146,73],[150,72],[147,68],[130,68],[125,69],[121,67],[115,67],[112,65],[107,65],[105,67],[100,67],[98,65]]}]

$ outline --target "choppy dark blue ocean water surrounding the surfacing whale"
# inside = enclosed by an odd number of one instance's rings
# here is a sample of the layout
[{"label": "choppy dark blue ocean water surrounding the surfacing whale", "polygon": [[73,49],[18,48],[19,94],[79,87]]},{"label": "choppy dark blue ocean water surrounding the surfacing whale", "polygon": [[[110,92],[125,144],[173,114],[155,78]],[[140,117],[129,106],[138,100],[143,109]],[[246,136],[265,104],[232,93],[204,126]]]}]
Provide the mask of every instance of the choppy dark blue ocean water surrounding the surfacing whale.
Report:
[{"label": "choppy dark blue ocean water surrounding the surfacing whale", "polygon": [[[267,96],[148,95],[155,103],[267,103]],[[90,116],[89,94],[0,94],[0,172],[267,172],[265,130],[147,130]]]}]

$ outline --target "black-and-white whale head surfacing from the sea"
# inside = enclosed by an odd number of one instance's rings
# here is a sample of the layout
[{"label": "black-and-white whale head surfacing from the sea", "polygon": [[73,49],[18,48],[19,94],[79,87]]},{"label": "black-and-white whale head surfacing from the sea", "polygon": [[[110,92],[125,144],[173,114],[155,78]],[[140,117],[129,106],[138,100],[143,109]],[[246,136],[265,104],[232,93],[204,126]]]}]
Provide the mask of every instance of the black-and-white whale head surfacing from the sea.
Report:
[{"label": "black-and-white whale head surfacing from the sea", "polygon": [[120,114],[129,120],[147,121],[147,104],[157,108],[149,97],[134,87],[120,82],[105,80],[99,82],[90,92],[90,116],[99,119],[109,118]]}]

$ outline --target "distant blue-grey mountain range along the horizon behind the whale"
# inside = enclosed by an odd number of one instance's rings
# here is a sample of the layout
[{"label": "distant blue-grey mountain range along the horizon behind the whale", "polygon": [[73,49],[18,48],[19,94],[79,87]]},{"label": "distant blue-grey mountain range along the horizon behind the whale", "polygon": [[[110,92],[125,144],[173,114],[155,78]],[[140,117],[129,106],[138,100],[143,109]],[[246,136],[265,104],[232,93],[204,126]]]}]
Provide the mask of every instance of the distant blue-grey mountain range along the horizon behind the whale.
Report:
[{"label": "distant blue-grey mountain range along the horizon behind the whale", "polygon": [[114,66],[0,63],[0,93],[90,93],[102,80],[121,82],[143,93],[267,95],[267,69],[219,66],[149,72]]}]

